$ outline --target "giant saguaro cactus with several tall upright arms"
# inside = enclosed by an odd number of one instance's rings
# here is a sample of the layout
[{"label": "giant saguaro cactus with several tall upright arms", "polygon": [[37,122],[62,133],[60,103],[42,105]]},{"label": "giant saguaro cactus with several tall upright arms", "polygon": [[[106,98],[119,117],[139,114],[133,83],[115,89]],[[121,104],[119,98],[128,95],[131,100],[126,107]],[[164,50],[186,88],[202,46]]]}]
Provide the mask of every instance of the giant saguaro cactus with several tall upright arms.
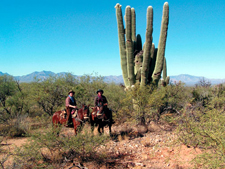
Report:
[{"label": "giant saguaro cactus with several tall upright arms", "polygon": [[163,82],[169,82],[166,74],[165,48],[169,23],[169,5],[163,6],[163,17],[158,48],[152,43],[153,8],[147,8],[146,42],[142,48],[141,36],[136,36],[136,14],[134,8],[126,7],[124,29],[121,5],[116,4],[121,68],[126,87],[135,83],[158,84],[163,70]]}]

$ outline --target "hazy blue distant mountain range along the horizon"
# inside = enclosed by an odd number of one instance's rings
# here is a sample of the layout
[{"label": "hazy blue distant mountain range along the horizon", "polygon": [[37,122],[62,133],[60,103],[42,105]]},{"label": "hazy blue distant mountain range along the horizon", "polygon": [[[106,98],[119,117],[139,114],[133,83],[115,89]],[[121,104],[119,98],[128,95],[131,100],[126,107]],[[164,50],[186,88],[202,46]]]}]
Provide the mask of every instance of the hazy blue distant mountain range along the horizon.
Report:
[{"label": "hazy blue distant mountain range along the horizon", "polygon": [[[2,76],[4,74],[9,75],[8,73],[0,72],[0,76]],[[29,83],[29,82],[34,81],[35,77],[37,79],[44,80],[44,79],[47,79],[49,76],[61,76],[61,75],[65,75],[65,74],[66,74],[66,72],[54,73],[54,72],[51,72],[51,71],[41,71],[41,72],[33,72],[33,73],[30,73],[30,74],[24,75],[24,76],[14,76],[14,78],[16,80],[18,80],[19,82]],[[74,76],[79,77],[77,75],[74,75]],[[170,76],[170,80],[172,82],[181,81],[181,82],[185,83],[187,86],[193,86],[193,85],[197,84],[203,78],[204,78],[204,80],[211,82],[212,85],[225,83],[225,79],[208,79],[208,78],[205,78],[203,76],[192,76],[192,75],[188,75],[188,74]],[[113,75],[103,76],[103,80],[107,83],[110,83],[110,82],[114,82],[116,84],[123,84],[124,83],[122,75],[119,75],[119,76],[113,76]]]}]

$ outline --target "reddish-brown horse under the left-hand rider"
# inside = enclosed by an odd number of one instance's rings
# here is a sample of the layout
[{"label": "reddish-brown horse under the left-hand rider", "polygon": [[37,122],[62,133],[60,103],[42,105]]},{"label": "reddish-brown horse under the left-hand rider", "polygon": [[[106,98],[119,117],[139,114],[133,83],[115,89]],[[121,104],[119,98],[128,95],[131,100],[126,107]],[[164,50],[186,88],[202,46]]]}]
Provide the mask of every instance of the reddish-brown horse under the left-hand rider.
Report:
[{"label": "reddish-brown horse under the left-hand rider", "polygon": [[[72,118],[74,132],[77,134],[78,126],[82,126],[82,124],[89,118],[89,105],[82,105],[82,108],[77,111],[76,118]],[[65,125],[66,122],[66,113],[65,111],[57,111],[52,116],[52,123],[54,126],[59,124]]]}]

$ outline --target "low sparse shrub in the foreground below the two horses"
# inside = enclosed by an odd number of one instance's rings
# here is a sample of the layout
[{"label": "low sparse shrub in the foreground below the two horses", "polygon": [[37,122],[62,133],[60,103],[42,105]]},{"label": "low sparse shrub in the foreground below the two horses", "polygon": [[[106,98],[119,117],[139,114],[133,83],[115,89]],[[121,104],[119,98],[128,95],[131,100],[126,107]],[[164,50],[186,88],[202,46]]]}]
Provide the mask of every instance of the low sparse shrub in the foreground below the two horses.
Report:
[{"label": "low sparse shrub in the foreground below the two horses", "polygon": [[76,136],[57,136],[60,130],[60,127],[48,128],[32,134],[29,142],[16,150],[14,165],[21,168],[62,168],[74,159],[78,162],[94,160],[99,155],[96,147],[104,145],[108,139],[107,136],[94,136],[88,131]]}]

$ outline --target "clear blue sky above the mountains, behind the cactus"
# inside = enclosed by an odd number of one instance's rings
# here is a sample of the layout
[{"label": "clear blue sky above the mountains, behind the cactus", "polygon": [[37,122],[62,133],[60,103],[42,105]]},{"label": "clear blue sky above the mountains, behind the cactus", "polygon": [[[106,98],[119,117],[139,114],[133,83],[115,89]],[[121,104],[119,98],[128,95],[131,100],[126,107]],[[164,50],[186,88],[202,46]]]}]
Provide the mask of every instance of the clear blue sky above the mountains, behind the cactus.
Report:
[{"label": "clear blue sky above the mountains, behind the cactus", "polygon": [[[145,41],[146,10],[153,7],[158,46],[165,1],[1,0],[0,71],[121,75],[114,6],[135,8],[137,34]],[[166,45],[169,76],[225,78],[225,1],[168,0]]]}]

